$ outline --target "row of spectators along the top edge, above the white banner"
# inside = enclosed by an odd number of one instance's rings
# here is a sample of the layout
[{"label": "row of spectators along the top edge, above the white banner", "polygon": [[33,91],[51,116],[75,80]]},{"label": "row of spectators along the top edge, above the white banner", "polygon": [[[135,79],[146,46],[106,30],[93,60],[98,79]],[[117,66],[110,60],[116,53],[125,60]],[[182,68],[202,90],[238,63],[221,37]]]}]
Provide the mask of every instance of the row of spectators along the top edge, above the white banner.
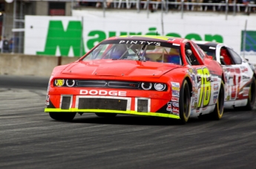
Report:
[{"label": "row of spectators along the top edge, above the white banner", "polygon": [[[103,0],[102,0],[103,1]],[[102,7],[102,1],[88,0],[79,1],[79,7]],[[137,4],[139,1],[139,6]],[[149,9],[151,12],[159,10],[161,8],[162,0],[149,0],[149,4],[146,0],[105,0],[106,8],[140,8],[142,10]],[[180,2],[182,0],[164,0],[167,4],[168,10],[180,10]],[[189,4],[184,4],[184,10],[197,10],[197,11],[225,11],[226,1],[229,4],[228,10],[244,13],[256,13],[256,0],[184,0],[183,2],[188,2]],[[203,3],[198,5],[193,5],[193,3]],[[214,4],[209,4],[214,3]],[[234,7],[233,4],[236,4]],[[148,7],[147,7],[148,5]]]}]

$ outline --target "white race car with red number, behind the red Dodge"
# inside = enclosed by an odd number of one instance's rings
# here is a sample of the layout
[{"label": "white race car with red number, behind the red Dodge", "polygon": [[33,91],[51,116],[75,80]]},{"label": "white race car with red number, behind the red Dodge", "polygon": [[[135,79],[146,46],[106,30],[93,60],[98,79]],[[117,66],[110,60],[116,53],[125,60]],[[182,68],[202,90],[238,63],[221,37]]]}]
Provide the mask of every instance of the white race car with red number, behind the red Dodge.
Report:
[{"label": "white race car with red number, behind the red Dodge", "polygon": [[194,41],[207,55],[219,62],[226,75],[225,108],[242,107],[252,110],[255,105],[255,68],[226,44]]}]

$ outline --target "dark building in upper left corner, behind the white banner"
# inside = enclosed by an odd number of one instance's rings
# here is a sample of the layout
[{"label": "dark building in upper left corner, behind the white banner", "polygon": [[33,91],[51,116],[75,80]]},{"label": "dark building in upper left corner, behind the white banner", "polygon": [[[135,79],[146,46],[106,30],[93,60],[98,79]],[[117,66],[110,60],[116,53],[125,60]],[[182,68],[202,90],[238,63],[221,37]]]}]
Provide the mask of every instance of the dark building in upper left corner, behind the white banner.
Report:
[{"label": "dark building in upper left corner, behind the white banner", "polygon": [[10,52],[24,51],[25,15],[71,15],[72,1],[0,0],[1,38],[10,39]]}]

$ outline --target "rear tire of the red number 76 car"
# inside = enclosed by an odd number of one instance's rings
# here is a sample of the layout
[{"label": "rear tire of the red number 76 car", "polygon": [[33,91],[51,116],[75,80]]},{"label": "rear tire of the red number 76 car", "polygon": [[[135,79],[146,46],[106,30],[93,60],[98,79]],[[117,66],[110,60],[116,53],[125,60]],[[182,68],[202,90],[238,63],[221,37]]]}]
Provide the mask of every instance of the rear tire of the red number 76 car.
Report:
[{"label": "rear tire of the red number 76 car", "polygon": [[225,87],[223,80],[220,83],[220,92],[217,97],[217,103],[215,104],[214,111],[211,113],[212,120],[220,120],[223,117],[224,112],[224,97],[225,97]]}]

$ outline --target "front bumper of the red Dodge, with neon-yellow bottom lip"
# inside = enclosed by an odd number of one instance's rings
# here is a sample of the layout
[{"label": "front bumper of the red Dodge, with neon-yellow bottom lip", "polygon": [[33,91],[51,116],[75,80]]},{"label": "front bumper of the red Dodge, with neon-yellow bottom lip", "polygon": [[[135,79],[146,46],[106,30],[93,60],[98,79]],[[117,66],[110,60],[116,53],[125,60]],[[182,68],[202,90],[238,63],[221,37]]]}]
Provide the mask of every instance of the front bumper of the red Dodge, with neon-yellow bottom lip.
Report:
[{"label": "front bumper of the red Dodge, with neon-yellow bottom lip", "polygon": [[[170,107],[170,92],[124,90],[125,96],[111,96],[109,95],[111,94],[110,89],[104,89],[106,95],[96,95],[96,92],[91,92],[91,95],[83,95],[74,89],[72,91],[74,94],[71,94],[70,90],[72,89],[68,89],[68,91],[51,89],[47,95],[45,112],[116,113],[180,119],[177,110],[172,111]],[[99,89],[97,90],[99,91]],[[122,94],[122,90],[120,91]],[[78,92],[79,94],[77,94]],[[102,92],[102,94],[105,93]]]}]

